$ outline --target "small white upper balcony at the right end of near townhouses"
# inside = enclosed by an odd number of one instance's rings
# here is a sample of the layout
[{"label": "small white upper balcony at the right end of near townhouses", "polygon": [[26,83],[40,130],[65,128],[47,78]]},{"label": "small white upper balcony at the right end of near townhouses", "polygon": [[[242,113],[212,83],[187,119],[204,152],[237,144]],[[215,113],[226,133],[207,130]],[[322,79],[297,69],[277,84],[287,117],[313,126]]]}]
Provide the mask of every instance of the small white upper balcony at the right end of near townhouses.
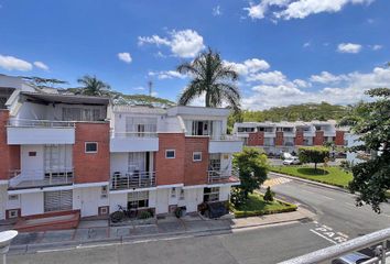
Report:
[{"label": "small white upper balcony at the right end of near townhouses", "polygon": [[234,135],[210,136],[208,153],[236,153],[242,151],[242,139]]}]

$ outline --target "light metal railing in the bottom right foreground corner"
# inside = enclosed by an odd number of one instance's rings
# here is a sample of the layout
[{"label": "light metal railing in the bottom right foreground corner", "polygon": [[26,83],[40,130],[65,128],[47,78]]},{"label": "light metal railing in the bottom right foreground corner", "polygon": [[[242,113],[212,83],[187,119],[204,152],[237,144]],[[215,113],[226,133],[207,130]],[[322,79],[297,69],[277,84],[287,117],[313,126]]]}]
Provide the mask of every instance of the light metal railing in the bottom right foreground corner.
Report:
[{"label": "light metal railing in the bottom right foreground corner", "polygon": [[314,251],[279,264],[308,264],[308,263],[331,263],[333,260],[370,246],[376,246],[375,257],[360,264],[380,263],[386,264],[386,258],[390,256],[387,249],[387,241],[390,239],[390,228],[373,233],[369,233],[357,239],[349,240],[329,248]]}]

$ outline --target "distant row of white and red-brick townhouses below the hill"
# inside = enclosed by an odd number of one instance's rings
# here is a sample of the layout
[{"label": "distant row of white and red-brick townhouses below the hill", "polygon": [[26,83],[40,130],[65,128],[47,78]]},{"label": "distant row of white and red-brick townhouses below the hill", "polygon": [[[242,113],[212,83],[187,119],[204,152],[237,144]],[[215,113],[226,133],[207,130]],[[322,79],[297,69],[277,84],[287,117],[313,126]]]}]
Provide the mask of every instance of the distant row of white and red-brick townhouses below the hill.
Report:
[{"label": "distant row of white and red-brick townhouses below the hill", "polygon": [[337,146],[346,145],[347,131],[337,128],[336,121],[311,122],[243,122],[236,123],[234,134],[245,145],[262,147],[268,154],[282,152],[297,153],[299,146],[323,145],[333,142]]}]

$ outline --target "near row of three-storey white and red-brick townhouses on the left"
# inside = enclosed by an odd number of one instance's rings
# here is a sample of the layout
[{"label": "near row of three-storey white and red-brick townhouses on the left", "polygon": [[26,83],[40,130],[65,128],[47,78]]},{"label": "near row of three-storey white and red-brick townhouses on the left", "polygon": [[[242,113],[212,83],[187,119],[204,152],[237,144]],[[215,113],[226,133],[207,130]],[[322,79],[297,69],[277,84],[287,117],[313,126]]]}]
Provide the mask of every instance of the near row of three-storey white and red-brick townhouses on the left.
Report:
[{"label": "near row of three-storey white and red-brick townhouses on the left", "polygon": [[228,200],[242,141],[228,109],[113,106],[0,76],[0,220],[124,208],[155,215]]}]

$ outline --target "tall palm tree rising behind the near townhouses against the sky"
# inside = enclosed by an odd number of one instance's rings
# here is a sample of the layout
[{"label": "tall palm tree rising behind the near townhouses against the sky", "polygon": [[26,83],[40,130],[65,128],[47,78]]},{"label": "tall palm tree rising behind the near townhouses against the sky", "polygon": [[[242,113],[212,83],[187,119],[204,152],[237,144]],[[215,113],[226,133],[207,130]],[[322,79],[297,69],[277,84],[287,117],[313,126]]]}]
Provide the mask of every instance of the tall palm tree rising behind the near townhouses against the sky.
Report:
[{"label": "tall palm tree rising behind the near townhouses against the sky", "polygon": [[238,74],[231,66],[223,63],[219,53],[208,48],[193,62],[180,65],[177,72],[193,76],[181,95],[178,105],[188,105],[205,94],[206,107],[220,107],[226,101],[235,111],[239,110],[241,96],[234,84]]}]

